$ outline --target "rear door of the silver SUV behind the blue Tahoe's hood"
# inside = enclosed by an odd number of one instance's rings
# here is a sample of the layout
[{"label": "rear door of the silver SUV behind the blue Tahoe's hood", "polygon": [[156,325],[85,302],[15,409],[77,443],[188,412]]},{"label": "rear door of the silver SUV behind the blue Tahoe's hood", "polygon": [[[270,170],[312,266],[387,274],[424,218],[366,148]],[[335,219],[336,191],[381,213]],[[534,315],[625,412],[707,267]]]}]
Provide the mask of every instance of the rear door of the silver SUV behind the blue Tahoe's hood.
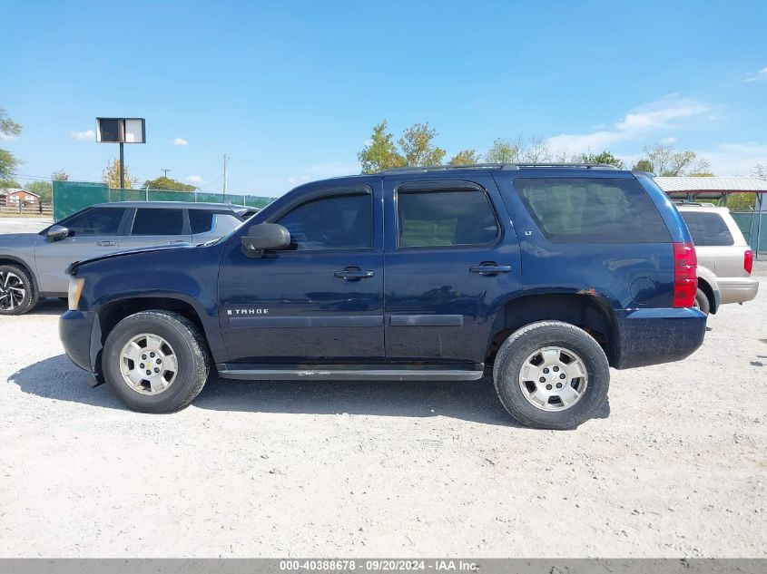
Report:
[{"label": "rear door of the silver SUV behind the blue Tahoe's hood", "polygon": [[169,243],[191,243],[192,233],[182,207],[137,208],[121,251]]}]

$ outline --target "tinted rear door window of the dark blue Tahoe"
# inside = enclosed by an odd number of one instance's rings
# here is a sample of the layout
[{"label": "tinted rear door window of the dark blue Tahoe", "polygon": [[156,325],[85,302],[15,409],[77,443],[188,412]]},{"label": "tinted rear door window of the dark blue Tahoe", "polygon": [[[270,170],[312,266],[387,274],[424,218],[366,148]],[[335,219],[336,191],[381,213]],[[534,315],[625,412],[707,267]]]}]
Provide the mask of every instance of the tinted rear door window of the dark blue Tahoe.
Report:
[{"label": "tinted rear door window of the dark blue Tahoe", "polygon": [[482,190],[399,191],[399,247],[485,245],[498,235]]}]

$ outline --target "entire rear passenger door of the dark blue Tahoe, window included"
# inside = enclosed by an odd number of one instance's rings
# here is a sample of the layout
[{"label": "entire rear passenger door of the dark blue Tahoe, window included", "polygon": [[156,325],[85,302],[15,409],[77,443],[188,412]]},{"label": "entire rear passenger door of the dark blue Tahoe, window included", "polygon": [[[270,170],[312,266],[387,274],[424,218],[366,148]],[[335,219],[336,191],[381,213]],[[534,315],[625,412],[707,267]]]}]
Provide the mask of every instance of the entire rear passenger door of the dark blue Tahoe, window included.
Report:
[{"label": "entire rear passenger door of the dark blue Tahoe, window included", "polygon": [[387,359],[481,363],[495,309],[521,289],[495,181],[392,175],[384,196]]}]

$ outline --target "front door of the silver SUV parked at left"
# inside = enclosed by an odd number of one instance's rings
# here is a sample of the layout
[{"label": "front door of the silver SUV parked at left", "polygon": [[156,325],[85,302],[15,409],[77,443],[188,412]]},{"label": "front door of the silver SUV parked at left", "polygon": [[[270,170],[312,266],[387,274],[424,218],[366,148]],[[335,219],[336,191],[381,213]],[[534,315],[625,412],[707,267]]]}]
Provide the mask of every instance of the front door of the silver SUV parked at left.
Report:
[{"label": "front door of the silver SUV parked at left", "polygon": [[34,264],[40,289],[51,295],[66,293],[69,277],[64,269],[73,261],[117,251],[123,240],[130,209],[93,207],[61,222],[70,236],[58,241],[40,238],[34,247]]}]

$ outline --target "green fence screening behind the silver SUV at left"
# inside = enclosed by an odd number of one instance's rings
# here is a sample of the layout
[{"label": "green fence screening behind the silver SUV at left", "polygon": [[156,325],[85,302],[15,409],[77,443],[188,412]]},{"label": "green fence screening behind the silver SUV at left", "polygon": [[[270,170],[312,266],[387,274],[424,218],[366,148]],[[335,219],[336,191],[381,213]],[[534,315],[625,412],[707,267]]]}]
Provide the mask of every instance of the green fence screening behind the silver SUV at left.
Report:
[{"label": "green fence screening behind the silver SUV at left", "polygon": [[202,191],[168,190],[110,190],[103,183],[88,181],[54,181],[54,220],[72,215],[75,211],[109,201],[192,201],[205,203],[233,203],[251,208],[263,208],[273,201],[255,195],[205,193]]}]

